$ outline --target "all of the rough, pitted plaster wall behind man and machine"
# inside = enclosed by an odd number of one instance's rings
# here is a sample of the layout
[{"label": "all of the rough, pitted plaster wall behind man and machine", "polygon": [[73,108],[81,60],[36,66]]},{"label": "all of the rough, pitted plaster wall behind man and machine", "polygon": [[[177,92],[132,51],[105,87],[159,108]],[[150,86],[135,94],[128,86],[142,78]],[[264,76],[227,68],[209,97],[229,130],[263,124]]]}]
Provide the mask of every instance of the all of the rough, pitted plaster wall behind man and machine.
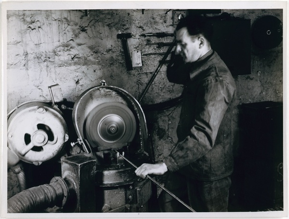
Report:
[{"label": "all of the rough, pitted plaster wall behind man and machine", "polygon": [[[173,32],[172,11],[167,10],[80,10],[8,11],[8,111],[30,100],[51,100],[48,86],[58,83],[68,101],[105,79],[136,99],[142,93],[162,56],[143,56],[142,67],[127,71],[118,33],[131,33],[130,51],[165,52],[147,42],[171,42],[171,37],[141,37],[142,33]],[[282,20],[280,10],[222,10],[253,23],[264,15]],[[169,83],[163,66],[143,104],[178,97],[182,87]],[[260,50],[252,45],[251,74],[237,76],[238,103],[282,101],[282,45]],[[180,107],[151,112],[147,123],[155,148],[155,161],[168,155],[177,142]],[[235,115],[237,118],[238,111]],[[237,127],[238,121],[235,118]],[[10,171],[9,176],[13,175]],[[159,178],[162,181],[162,177]],[[8,184],[14,184],[15,177]],[[8,196],[17,193],[13,187]],[[9,191],[8,191],[9,192]]]}]

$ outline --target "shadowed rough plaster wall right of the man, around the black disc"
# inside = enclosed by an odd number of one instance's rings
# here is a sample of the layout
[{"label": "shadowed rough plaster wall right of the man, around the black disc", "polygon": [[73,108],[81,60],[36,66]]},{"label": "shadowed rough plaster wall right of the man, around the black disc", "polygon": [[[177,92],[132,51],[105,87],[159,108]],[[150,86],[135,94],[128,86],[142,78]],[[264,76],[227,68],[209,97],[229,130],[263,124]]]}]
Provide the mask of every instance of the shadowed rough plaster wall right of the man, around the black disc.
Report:
[{"label": "shadowed rough plaster wall right of the man, around the black disc", "polygon": [[[276,16],[282,21],[282,10],[225,10],[229,14],[251,19],[253,24],[265,15]],[[251,47],[251,74],[236,78],[240,103],[261,101],[283,101],[283,46],[260,49]]]}]

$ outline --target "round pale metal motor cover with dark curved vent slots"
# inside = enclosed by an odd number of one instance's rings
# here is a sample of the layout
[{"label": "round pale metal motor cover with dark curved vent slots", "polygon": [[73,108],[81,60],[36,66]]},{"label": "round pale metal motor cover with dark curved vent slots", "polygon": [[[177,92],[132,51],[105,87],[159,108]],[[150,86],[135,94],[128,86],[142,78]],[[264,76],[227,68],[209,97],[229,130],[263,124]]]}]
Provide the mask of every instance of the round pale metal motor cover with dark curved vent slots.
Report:
[{"label": "round pale metal motor cover with dark curved vent slots", "polygon": [[8,114],[8,147],[22,161],[40,165],[68,140],[61,112],[42,102],[25,103]]}]

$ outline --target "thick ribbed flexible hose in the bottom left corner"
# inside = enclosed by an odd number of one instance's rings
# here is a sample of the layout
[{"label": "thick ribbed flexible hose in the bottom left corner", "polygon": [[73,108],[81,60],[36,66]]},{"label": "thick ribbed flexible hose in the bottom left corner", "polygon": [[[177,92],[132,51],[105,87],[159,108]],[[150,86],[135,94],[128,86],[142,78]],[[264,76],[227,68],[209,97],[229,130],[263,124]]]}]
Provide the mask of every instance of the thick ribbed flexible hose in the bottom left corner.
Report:
[{"label": "thick ribbed flexible hose in the bottom left corner", "polygon": [[26,189],[8,199],[8,213],[39,212],[48,207],[62,207],[62,201],[67,194],[63,183],[53,182]]}]

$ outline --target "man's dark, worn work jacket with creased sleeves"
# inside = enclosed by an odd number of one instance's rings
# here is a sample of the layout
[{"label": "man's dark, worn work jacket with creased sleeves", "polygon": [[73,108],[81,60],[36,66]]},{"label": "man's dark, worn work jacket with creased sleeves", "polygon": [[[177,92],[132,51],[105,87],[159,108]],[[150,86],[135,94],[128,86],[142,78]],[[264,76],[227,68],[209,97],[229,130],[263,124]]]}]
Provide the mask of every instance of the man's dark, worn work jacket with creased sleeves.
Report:
[{"label": "man's dark, worn work jacket with creased sleeves", "polygon": [[164,159],[168,170],[179,170],[201,181],[230,175],[233,171],[231,102],[236,96],[236,84],[229,69],[213,52],[199,62],[169,64],[167,77],[170,82],[184,84],[178,143]]}]

